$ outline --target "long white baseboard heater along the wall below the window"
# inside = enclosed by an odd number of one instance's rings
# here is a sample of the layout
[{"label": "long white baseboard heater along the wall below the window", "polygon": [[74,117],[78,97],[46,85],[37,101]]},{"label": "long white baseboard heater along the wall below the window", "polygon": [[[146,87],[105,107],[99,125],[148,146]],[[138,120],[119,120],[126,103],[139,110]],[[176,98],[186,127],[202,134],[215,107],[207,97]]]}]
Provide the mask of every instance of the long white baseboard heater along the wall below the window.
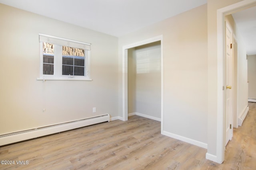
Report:
[{"label": "long white baseboard heater along the wall below the window", "polygon": [[71,129],[94,125],[94,124],[102,123],[106,121],[110,121],[109,114],[90,117],[90,118],[76,120],[76,121],[70,121],[66,123],[60,123],[56,125],[39,127],[36,129],[29,129],[25,131],[8,133],[8,134],[0,135],[0,146],[16,143],[20,141],[25,141],[28,139],[34,139],[34,138],[42,137],[46,135],[51,135],[51,134],[59,133],[63,131],[68,131]]}]

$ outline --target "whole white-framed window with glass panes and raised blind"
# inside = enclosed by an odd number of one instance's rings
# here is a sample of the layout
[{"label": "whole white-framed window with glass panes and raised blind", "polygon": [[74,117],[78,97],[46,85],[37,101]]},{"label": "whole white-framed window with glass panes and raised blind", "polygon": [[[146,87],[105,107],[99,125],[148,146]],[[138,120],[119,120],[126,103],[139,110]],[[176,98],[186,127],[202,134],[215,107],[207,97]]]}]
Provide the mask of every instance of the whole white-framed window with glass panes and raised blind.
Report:
[{"label": "whole white-framed window with glass panes and raised blind", "polygon": [[39,34],[38,80],[91,80],[90,44]]}]

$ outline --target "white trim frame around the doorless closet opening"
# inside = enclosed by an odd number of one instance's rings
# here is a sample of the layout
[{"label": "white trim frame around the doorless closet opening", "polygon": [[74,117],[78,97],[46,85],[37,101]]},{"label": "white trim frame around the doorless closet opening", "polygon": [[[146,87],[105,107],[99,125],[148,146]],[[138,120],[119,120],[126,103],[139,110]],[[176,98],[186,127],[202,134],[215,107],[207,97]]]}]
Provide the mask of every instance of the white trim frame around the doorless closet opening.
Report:
[{"label": "white trim frame around the doorless closet opening", "polygon": [[163,62],[163,35],[158,35],[149,39],[138,41],[129,45],[123,46],[122,49],[122,120],[128,120],[128,49],[141,45],[161,42],[161,134],[163,134],[164,120],[164,62]]}]

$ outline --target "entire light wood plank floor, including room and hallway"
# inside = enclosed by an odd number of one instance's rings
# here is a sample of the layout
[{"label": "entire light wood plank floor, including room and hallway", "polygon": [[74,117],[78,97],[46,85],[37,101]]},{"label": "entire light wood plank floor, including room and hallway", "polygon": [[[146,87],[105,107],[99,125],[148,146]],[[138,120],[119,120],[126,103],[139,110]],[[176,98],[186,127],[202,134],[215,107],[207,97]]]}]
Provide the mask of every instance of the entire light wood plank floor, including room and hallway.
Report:
[{"label": "entire light wood plank floor, including room and hallway", "polygon": [[256,170],[256,103],[249,108],[223,164],[206,160],[206,149],[161,135],[160,122],[134,115],[0,147],[0,160],[28,160],[0,169]]}]

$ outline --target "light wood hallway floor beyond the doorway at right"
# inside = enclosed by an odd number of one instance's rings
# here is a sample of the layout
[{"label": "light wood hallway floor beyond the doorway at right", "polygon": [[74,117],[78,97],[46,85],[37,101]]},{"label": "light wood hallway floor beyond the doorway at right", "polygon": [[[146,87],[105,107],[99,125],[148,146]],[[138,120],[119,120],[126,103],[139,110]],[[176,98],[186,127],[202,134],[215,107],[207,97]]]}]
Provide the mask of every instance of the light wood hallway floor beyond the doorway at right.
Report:
[{"label": "light wood hallway floor beyond the doorway at right", "polygon": [[226,146],[225,160],[221,168],[256,169],[256,103],[248,102],[248,106],[249,112],[242,126],[234,128],[233,138]]}]

